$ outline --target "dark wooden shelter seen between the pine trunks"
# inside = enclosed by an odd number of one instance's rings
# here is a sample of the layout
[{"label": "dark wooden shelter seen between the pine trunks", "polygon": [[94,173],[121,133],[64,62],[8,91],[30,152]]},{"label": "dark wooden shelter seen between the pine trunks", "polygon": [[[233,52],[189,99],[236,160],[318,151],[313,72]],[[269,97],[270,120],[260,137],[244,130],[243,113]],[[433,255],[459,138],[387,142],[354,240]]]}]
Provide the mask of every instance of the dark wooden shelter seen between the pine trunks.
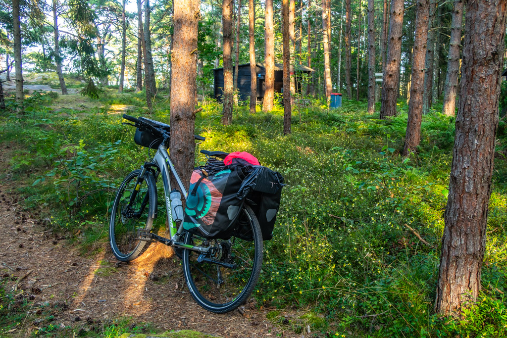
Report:
[{"label": "dark wooden shelter seen between the pine trunks", "polygon": [[[301,93],[301,83],[303,74],[312,72],[312,68],[303,65],[296,65],[296,91]],[[234,77],[235,67],[233,67]],[[264,91],[266,90],[266,68],[263,63],[257,63],[257,102],[262,102]],[[224,68],[213,69],[213,97],[222,102],[222,94],[224,91]],[[283,88],[283,64],[275,63],[275,93],[281,93]],[[242,101],[250,97],[250,64],[243,63],[238,65],[238,90],[239,99]]]}]

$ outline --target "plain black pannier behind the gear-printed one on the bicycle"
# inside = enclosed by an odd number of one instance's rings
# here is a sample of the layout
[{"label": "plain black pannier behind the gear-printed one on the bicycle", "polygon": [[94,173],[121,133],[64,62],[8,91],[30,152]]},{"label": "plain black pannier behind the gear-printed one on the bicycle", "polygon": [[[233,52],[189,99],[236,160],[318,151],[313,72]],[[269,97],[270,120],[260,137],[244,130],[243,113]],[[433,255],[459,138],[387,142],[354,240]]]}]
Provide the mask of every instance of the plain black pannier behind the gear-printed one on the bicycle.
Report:
[{"label": "plain black pannier behind the gear-printed one on the bicycle", "polygon": [[[283,176],[263,166],[252,166],[252,170],[243,180],[238,198],[248,199],[253,212],[261,225],[262,238],[268,241],[273,238],[273,228],[276,221],[276,214],[280,207],[280,197],[283,184]],[[249,240],[252,239],[251,230],[244,220],[238,222],[235,229],[235,236]]]}]

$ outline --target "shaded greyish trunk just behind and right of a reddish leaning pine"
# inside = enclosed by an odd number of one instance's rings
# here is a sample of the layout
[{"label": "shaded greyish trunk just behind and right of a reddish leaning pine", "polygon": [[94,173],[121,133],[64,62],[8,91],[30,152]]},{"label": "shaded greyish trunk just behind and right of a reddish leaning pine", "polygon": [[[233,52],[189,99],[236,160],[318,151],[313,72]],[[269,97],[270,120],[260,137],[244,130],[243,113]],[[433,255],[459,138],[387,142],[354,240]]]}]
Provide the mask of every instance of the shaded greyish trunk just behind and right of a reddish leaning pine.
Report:
[{"label": "shaded greyish trunk just behind and right of a reddish leaning pine", "polygon": [[429,17],[428,17],[428,40],[426,44],[426,60],[424,61],[424,87],[422,96],[422,112],[428,114],[429,107],[432,102],[432,86],[433,86],[433,63],[435,51],[435,13],[437,10],[436,0],[429,0]]}]

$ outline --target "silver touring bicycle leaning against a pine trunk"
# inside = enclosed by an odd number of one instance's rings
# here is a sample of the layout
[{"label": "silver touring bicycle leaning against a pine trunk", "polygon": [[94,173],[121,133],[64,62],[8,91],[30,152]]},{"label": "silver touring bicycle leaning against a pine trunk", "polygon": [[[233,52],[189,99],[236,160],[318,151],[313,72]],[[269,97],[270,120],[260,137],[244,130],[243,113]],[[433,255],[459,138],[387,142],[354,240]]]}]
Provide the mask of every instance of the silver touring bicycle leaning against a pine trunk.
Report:
[{"label": "silver touring bicycle leaning against a pine trunk", "polygon": [[[137,144],[157,149],[151,161],[129,173],[118,189],[110,220],[110,244],[120,261],[137,258],[154,241],[171,246],[182,259],[187,286],[195,301],[214,313],[226,313],[238,308],[250,296],[261,273],[263,239],[259,221],[245,202],[239,224],[251,231],[251,238],[231,237],[229,240],[206,239],[183,229],[183,221],[173,219],[171,210],[170,175],[174,175],[179,190],[187,199],[188,192],[169,156],[170,127],[151,119],[123,115],[136,127]],[[205,138],[194,135],[196,140]],[[201,151],[206,157],[224,159],[227,153]],[[162,175],[160,175],[162,174]],[[166,224],[170,238],[153,230],[158,214],[157,180],[162,177]]]}]

